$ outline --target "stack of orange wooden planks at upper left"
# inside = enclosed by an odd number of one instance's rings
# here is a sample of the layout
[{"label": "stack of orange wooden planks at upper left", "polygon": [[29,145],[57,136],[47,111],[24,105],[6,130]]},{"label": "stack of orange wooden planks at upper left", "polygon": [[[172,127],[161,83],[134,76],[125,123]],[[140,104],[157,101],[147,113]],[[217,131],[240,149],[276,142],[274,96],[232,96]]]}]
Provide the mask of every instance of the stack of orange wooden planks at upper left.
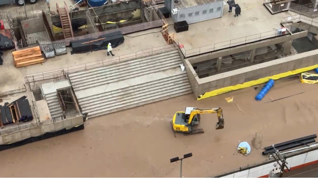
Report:
[{"label": "stack of orange wooden planks at upper left", "polygon": [[17,68],[44,62],[40,46],[14,51],[12,55]]}]

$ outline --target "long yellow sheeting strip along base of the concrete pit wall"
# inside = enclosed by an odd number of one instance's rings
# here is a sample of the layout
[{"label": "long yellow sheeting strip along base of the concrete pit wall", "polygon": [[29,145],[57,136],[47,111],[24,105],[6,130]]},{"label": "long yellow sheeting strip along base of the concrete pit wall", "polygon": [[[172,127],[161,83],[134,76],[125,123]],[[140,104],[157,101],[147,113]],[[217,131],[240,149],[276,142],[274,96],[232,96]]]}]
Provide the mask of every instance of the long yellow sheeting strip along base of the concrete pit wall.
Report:
[{"label": "long yellow sheeting strip along base of the concrete pit wall", "polygon": [[315,69],[317,67],[318,67],[318,65],[305,67],[305,68],[299,68],[299,69],[296,69],[296,70],[292,70],[292,71],[276,74],[276,75],[269,76],[269,77],[264,77],[264,78],[257,79],[257,80],[254,80],[254,81],[248,81],[248,82],[244,82],[242,84],[237,84],[237,85],[234,85],[234,86],[228,86],[228,87],[225,87],[225,88],[216,89],[216,90],[209,91],[209,92],[206,92],[206,93],[198,96],[197,100],[202,100],[204,98],[209,98],[211,96],[217,96],[217,95],[220,95],[220,94],[223,94],[223,93],[226,93],[226,92],[230,92],[230,91],[234,91],[234,90],[238,90],[238,89],[244,89],[244,88],[248,88],[248,87],[251,87],[251,86],[258,85],[258,84],[263,84],[263,83],[268,82],[270,79],[277,80],[277,79],[288,77],[288,76],[291,76],[291,75],[294,75],[294,74],[299,74],[299,73],[302,73],[302,72],[305,72],[305,71],[313,70],[313,69]]}]

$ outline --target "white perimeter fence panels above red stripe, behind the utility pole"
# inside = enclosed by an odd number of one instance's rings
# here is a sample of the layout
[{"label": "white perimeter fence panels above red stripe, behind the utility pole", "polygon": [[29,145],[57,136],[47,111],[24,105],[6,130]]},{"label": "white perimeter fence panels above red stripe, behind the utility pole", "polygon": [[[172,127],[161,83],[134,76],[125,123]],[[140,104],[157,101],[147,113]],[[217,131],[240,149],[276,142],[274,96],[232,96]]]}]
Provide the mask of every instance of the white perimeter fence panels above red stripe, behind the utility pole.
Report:
[{"label": "white perimeter fence panels above red stripe, behind the utility pole", "polygon": [[[290,168],[301,166],[303,164],[308,164],[310,162],[314,162],[317,160],[318,150],[303,153],[286,159],[288,166]],[[259,178],[268,175],[272,169],[275,169],[274,163],[275,161],[273,160],[273,162],[271,163],[240,171],[237,173],[232,173],[226,176],[222,176],[221,178]]]}]

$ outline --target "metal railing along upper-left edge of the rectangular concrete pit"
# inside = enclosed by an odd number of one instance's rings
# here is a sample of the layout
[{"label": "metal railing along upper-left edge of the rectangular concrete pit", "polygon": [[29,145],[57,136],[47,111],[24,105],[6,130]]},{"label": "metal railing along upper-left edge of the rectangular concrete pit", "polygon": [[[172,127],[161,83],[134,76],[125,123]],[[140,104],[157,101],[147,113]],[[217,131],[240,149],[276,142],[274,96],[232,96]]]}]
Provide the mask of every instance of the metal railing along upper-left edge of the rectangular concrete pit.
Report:
[{"label": "metal railing along upper-left edge of the rectangular concrete pit", "polygon": [[[237,38],[237,39],[231,39],[231,40],[227,40],[227,41],[223,41],[223,42],[218,42],[218,43],[214,43],[211,45],[202,46],[202,47],[194,48],[194,49],[190,49],[190,50],[185,50],[183,48],[183,49],[181,49],[181,51],[183,52],[184,57],[190,57],[190,56],[203,54],[203,53],[209,53],[211,51],[225,49],[225,48],[229,48],[229,47],[233,47],[233,46],[239,46],[239,45],[251,43],[254,41],[259,41],[259,40],[263,40],[263,39],[273,38],[276,36],[290,34],[289,28],[286,28],[286,29],[287,30],[285,32],[281,32],[281,29],[277,29],[277,30],[262,32],[259,34],[253,34],[253,35],[249,35],[249,36],[245,36],[245,37],[241,37],[241,38]],[[179,40],[176,42],[176,44],[178,46],[181,45]]]}]

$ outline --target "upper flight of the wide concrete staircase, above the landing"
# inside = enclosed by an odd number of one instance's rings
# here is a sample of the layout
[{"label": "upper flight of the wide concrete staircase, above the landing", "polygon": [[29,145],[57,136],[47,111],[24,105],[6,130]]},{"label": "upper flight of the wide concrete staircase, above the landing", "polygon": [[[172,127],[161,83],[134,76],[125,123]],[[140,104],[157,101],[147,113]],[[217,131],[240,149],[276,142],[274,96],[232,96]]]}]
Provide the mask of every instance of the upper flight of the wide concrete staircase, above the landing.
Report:
[{"label": "upper flight of the wide concrete staircase, above the landing", "polygon": [[74,91],[79,91],[175,68],[179,66],[180,62],[181,59],[178,51],[173,50],[167,53],[121,62],[107,67],[84,70],[69,74],[69,77]]}]

